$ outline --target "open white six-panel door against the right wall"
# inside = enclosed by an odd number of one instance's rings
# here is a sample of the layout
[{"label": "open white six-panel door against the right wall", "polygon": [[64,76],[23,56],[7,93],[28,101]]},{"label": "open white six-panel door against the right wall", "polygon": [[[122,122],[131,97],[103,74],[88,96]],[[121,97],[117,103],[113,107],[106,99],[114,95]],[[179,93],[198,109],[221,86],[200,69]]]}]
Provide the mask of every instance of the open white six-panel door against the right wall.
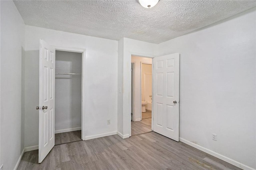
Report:
[{"label": "open white six-panel door against the right wall", "polygon": [[154,131],[179,141],[180,54],[153,58]]}]

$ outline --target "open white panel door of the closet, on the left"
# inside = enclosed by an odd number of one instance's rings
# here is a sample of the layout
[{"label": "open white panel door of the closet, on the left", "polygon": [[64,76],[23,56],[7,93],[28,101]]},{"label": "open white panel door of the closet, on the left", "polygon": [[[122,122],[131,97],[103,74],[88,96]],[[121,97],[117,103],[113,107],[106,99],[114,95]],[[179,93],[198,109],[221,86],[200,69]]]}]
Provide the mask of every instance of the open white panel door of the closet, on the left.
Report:
[{"label": "open white panel door of the closet, on the left", "polygon": [[40,40],[39,69],[38,163],[41,163],[55,143],[55,49],[43,40]]}]

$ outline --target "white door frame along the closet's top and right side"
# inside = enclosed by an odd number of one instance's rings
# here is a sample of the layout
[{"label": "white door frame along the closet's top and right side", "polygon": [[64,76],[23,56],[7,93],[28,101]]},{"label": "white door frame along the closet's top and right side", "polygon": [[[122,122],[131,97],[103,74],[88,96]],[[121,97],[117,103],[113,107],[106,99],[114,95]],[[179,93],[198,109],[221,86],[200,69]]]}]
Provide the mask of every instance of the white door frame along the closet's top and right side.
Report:
[{"label": "white door frame along the closet's top and right side", "polygon": [[[69,51],[69,52],[76,52],[76,53],[82,53],[82,103],[81,103],[81,138],[82,140],[85,140],[85,132],[86,130],[84,129],[83,123],[85,122],[85,95],[84,95],[84,85],[85,85],[85,59],[86,59],[86,50],[82,48],[72,48],[72,47],[62,47],[62,46],[56,46],[56,45],[51,45],[55,51]],[[54,87],[55,88],[55,87]]]}]

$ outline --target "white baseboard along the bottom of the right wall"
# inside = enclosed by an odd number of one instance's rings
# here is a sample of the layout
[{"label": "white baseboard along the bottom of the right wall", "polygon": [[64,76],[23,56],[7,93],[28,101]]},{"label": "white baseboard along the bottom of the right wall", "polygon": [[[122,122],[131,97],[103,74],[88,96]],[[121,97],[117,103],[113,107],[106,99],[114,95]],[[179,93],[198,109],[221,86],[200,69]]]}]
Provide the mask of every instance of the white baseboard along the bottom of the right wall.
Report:
[{"label": "white baseboard along the bottom of the right wall", "polygon": [[194,147],[194,148],[197,148],[197,149],[199,149],[199,150],[202,150],[203,152],[206,152],[206,153],[208,153],[208,154],[210,154],[210,155],[212,155],[212,156],[215,156],[216,158],[219,158],[219,159],[221,159],[221,160],[224,160],[225,162],[228,162],[228,163],[230,163],[230,164],[232,164],[232,165],[234,165],[234,166],[237,166],[238,168],[242,168],[242,169],[244,169],[244,170],[255,170],[254,168],[252,168],[252,167],[250,167],[250,166],[247,166],[247,165],[245,165],[245,164],[242,164],[242,163],[240,163],[240,162],[238,162],[238,161],[236,161],[236,160],[233,160],[233,159],[231,159],[231,158],[228,158],[227,156],[224,156],[224,155],[222,155],[222,154],[219,154],[219,153],[217,153],[217,152],[214,152],[214,151],[212,151],[212,150],[210,150],[210,149],[208,149],[208,148],[205,148],[205,147],[203,147],[203,146],[200,146],[200,145],[198,145],[198,144],[195,144],[195,143],[193,143],[193,142],[190,142],[190,141],[188,141],[188,140],[186,140],[186,139],[180,138],[180,142],[186,143],[186,144],[188,144],[188,145],[190,145],[190,146],[192,146],[192,147]]}]

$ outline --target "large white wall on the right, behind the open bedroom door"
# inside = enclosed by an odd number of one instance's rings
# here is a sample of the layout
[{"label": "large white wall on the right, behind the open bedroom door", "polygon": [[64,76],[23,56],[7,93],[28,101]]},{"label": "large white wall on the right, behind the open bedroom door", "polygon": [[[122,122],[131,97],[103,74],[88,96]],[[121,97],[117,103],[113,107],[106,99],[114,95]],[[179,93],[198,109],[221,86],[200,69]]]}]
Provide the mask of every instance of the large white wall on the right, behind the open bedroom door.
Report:
[{"label": "large white wall on the right, behind the open bedroom door", "polygon": [[158,45],[180,53],[180,137],[253,168],[255,9]]}]

